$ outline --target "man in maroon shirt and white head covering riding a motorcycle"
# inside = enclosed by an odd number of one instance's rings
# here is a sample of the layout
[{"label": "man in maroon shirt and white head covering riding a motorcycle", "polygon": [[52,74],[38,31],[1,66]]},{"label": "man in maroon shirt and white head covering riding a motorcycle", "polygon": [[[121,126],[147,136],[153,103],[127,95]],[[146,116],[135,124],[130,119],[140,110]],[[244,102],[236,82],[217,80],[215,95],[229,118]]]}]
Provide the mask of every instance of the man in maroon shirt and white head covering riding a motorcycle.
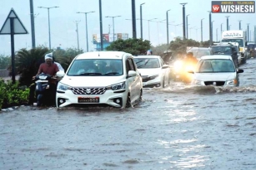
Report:
[{"label": "man in maroon shirt and white head covering riding a motorcycle", "polygon": [[[53,63],[53,54],[52,53],[46,54],[44,56],[44,60],[45,62],[39,66],[37,75],[40,75],[41,73],[48,74],[48,75],[56,75],[59,69],[58,69],[58,66],[55,63]],[[37,75],[33,76],[33,80]],[[48,90],[48,94],[46,95],[49,96],[48,104],[52,105],[55,103],[57,85],[56,85],[56,80],[54,79],[50,80],[49,83],[50,83],[49,90]],[[33,96],[34,96],[35,88],[36,88],[35,84],[30,86],[29,104],[33,104]]]}]

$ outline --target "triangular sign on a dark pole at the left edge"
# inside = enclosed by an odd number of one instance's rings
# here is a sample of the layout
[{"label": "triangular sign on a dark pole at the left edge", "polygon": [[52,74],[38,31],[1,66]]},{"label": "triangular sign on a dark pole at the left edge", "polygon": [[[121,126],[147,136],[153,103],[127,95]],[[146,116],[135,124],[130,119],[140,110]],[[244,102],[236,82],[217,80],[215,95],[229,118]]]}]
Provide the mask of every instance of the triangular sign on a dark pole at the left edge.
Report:
[{"label": "triangular sign on a dark pole at the left edge", "polygon": [[0,30],[0,35],[11,35],[11,49],[12,49],[12,80],[15,83],[15,53],[14,53],[14,34],[28,34],[27,29],[23,26],[23,22],[20,21],[13,8],[8,14],[7,19],[3,23],[3,27]]}]

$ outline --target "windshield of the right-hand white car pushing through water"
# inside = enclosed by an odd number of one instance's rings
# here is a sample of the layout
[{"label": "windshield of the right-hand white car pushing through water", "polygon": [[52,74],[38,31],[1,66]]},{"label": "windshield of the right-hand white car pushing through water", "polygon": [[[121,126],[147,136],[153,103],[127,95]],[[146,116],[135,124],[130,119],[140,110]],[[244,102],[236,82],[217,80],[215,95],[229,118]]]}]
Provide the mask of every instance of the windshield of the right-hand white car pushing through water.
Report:
[{"label": "windshield of the right-hand white car pushing through water", "polygon": [[234,72],[233,61],[224,59],[210,59],[202,60],[198,62],[198,66],[195,70],[197,73],[208,72]]}]

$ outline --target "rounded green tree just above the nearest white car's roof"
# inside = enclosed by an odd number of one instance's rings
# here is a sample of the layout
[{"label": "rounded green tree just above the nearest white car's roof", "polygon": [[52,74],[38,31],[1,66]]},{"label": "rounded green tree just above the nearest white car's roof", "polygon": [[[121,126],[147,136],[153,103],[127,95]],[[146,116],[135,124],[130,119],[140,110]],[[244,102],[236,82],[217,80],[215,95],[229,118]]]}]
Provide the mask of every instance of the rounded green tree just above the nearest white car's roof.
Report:
[{"label": "rounded green tree just above the nearest white car's roof", "polygon": [[148,49],[150,49],[150,41],[136,38],[118,39],[106,48],[107,51],[124,51],[134,56],[144,55]]}]

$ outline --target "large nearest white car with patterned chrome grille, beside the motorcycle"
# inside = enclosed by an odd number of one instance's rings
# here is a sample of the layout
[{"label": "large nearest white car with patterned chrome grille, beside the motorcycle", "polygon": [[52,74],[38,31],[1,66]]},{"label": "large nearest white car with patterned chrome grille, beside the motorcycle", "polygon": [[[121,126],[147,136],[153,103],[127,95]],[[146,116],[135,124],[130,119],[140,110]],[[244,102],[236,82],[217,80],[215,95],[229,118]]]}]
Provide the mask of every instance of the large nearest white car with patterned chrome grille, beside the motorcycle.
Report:
[{"label": "large nearest white car with patterned chrome grille, beside the motorcycle", "polygon": [[131,54],[93,51],[73,59],[58,82],[56,105],[108,104],[125,108],[137,104],[142,95],[142,77]]}]

